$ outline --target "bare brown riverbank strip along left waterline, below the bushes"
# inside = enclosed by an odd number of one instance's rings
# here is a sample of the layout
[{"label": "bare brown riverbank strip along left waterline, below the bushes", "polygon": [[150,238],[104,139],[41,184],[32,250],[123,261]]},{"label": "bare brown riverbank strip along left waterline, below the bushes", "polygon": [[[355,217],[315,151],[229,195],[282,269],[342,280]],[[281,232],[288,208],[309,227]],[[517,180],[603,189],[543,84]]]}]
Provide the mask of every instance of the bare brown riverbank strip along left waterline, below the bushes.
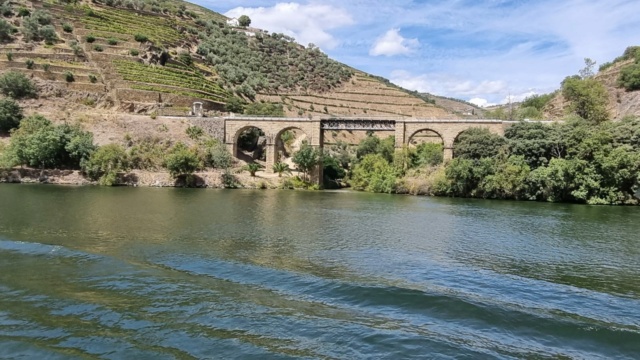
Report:
[{"label": "bare brown riverbank strip along left waterline, below the bushes", "polygon": [[[232,173],[225,181],[224,172],[218,170],[196,172],[193,174],[192,187],[197,188],[246,188],[246,189],[280,189],[288,187],[291,177],[278,177],[277,174],[257,172],[255,177],[246,172]],[[24,184],[57,184],[57,185],[97,185],[82,175],[79,170],[16,168],[0,170],[0,183]],[[133,170],[120,174],[116,186],[143,187],[184,187],[184,178],[173,178],[166,171]]]}]

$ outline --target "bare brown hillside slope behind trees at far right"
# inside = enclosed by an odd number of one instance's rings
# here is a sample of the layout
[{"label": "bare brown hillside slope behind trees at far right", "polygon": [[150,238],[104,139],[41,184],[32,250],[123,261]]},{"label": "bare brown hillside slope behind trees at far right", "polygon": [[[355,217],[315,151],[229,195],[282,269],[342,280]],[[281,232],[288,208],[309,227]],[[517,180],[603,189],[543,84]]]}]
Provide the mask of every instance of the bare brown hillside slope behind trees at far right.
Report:
[{"label": "bare brown hillside slope behind trees at far right", "polygon": [[[621,72],[638,62],[637,47],[629,47],[625,54],[600,66],[594,79],[604,85],[608,94],[607,111],[613,120],[620,120],[625,116],[640,116],[640,91],[627,90],[619,84]],[[558,91],[544,108],[544,115],[548,119],[561,119],[566,115],[569,102]]]}]

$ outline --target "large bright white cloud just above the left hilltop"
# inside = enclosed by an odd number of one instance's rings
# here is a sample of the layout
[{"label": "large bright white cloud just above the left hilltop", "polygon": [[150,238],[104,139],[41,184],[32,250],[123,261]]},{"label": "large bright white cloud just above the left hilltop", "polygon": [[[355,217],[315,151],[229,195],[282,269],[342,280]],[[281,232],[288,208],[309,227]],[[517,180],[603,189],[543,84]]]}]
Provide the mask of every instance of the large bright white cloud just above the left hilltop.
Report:
[{"label": "large bright white cloud just above the left hilltop", "polygon": [[236,7],[225,13],[228,17],[247,15],[251,26],[292,36],[300,44],[313,43],[332,49],[338,40],[329,30],[353,24],[351,15],[331,5],[296,2],[277,3],[272,7]]}]

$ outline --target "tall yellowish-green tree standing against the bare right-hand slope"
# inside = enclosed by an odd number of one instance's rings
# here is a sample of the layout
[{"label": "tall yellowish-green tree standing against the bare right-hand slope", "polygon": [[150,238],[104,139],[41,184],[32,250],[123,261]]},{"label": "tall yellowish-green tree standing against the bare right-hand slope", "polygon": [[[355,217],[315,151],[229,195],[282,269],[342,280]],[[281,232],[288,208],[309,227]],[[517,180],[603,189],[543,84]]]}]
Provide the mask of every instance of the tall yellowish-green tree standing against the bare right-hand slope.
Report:
[{"label": "tall yellowish-green tree standing against the bare right-hand slope", "polygon": [[570,110],[592,123],[609,119],[609,94],[601,82],[594,78],[567,77],[562,82],[562,95],[570,102]]}]

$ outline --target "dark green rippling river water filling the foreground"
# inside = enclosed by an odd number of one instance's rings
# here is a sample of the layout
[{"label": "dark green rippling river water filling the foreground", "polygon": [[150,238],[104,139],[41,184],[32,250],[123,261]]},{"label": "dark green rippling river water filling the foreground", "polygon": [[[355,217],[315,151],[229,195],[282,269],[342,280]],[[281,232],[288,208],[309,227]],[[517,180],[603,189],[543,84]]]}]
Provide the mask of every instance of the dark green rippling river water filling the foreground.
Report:
[{"label": "dark green rippling river water filling the foreground", "polygon": [[0,358],[640,358],[640,208],[0,185]]}]

